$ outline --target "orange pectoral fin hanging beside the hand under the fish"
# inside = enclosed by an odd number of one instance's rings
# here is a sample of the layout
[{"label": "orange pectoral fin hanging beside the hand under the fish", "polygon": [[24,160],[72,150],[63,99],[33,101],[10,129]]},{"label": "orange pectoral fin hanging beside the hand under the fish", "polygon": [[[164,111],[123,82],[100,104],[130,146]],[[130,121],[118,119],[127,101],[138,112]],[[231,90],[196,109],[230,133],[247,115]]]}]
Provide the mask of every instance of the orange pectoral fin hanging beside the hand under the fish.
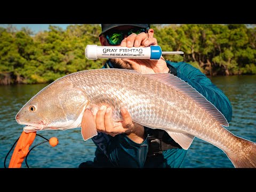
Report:
[{"label": "orange pectoral fin hanging beside the hand under the fish", "polygon": [[98,135],[96,124],[93,119],[93,114],[90,109],[85,109],[84,111],[84,115],[81,123],[81,133],[85,141],[87,139],[94,137],[95,135]]}]

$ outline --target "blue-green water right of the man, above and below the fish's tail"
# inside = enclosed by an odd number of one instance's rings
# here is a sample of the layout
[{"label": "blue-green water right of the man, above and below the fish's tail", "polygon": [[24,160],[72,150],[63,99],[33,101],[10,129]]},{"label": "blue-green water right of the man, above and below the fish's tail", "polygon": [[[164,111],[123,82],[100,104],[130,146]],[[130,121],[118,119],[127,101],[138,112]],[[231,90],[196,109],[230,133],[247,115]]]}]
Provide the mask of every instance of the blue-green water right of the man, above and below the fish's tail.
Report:
[{"label": "blue-green water right of the man, above and below the fish's tail", "polygon": [[[212,82],[229,98],[233,109],[227,130],[256,142],[256,76],[212,77]],[[195,138],[185,159],[184,167],[234,167],[218,147]]]}]

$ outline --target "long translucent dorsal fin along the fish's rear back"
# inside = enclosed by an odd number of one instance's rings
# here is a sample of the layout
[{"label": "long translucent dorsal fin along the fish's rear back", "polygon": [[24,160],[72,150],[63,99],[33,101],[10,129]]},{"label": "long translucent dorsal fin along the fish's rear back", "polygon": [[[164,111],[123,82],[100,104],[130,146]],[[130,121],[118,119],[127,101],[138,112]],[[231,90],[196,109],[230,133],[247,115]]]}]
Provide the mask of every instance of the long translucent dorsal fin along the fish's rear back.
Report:
[{"label": "long translucent dorsal fin along the fish's rear back", "polygon": [[157,73],[157,74],[143,74],[150,78],[156,79],[158,82],[164,83],[168,86],[174,88],[179,93],[185,95],[194,100],[199,107],[202,107],[207,111],[217,122],[221,125],[228,126],[227,119],[223,114],[201,93],[196,91],[192,86],[183,81],[181,78],[167,73]]}]

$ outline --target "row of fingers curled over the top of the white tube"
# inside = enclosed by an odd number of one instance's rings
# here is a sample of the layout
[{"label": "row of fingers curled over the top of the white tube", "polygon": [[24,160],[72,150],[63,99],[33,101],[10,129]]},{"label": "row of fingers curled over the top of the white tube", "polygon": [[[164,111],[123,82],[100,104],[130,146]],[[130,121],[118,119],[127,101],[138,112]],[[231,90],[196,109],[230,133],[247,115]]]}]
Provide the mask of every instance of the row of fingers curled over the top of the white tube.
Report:
[{"label": "row of fingers curled over the top of the white tube", "polygon": [[121,46],[126,47],[139,47],[139,46],[149,46],[157,45],[157,40],[154,37],[148,37],[146,33],[140,33],[138,35],[131,34],[128,37],[124,38],[121,42]]}]

